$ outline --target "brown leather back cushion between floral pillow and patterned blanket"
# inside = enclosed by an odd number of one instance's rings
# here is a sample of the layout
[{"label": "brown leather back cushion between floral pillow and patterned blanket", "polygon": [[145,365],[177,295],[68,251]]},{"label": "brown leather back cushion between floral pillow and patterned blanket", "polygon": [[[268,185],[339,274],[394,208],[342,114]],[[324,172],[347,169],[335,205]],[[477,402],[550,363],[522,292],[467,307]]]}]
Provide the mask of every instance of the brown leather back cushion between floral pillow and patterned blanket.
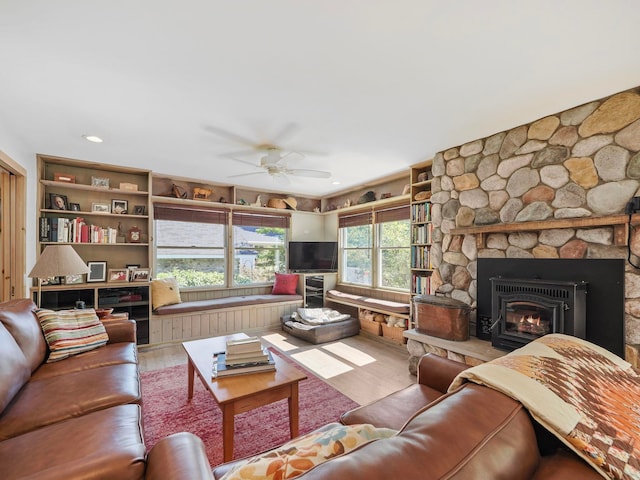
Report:
[{"label": "brown leather back cushion between floral pillow and patterned blanket", "polygon": [[533,477],[539,460],[522,405],[466,384],[427,406],[397,435],[318,465],[304,478],[524,480]]}]

